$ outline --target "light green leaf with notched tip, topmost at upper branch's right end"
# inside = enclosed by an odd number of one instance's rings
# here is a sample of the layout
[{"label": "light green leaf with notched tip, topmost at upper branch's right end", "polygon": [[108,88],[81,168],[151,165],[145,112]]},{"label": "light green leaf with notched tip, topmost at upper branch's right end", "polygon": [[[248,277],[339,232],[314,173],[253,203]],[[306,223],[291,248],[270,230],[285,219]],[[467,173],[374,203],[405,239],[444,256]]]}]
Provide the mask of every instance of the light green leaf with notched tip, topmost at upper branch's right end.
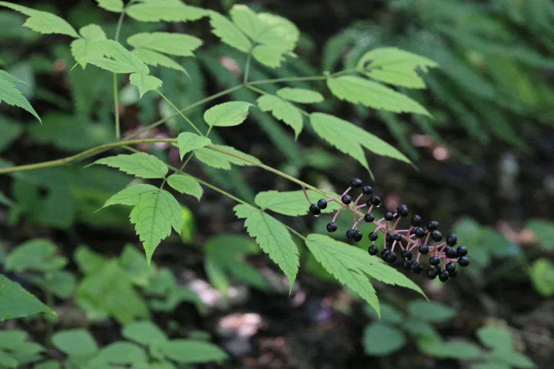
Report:
[{"label": "light green leaf with notched tip, topmost at upper branch's right end", "polygon": [[388,84],[424,89],[425,82],[417,74],[420,68],[438,67],[433,60],[397,48],[378,48],[363,54],[357,69],[368,77]]}]

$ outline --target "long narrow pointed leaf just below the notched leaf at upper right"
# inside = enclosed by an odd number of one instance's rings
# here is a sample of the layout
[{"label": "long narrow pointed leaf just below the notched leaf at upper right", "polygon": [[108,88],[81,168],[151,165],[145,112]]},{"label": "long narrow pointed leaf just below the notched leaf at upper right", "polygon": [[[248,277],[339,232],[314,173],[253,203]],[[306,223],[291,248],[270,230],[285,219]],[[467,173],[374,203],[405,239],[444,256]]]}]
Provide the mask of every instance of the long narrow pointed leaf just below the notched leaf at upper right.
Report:
[{"label": "long narrow pointed leaf just below the notched leaf at upper right", "polygon": [[358,76],[340,76],[327,79],[332,94],[353,104],[361,103],[374,109],[394,113],[416,113],[431,116],[416,100],[377,82]]}]

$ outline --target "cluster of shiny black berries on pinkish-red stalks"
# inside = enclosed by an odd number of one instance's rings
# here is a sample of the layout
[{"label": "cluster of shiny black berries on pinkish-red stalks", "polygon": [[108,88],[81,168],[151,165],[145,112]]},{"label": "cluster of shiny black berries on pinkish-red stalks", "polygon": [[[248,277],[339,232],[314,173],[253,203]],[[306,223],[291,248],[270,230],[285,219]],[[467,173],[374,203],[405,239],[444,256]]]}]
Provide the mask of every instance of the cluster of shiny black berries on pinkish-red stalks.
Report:
[{"label": "cluster of shiny black berries on pinkish-red stalks", "polygon": [[[346,231],[346,238],[359,242],[362,240],[363,233],[358,230],[358,224],[363,220],[368,223],[375,224],[376,228],[371,232],[368,237],[371,241],[371,246],[368,248],[370,255],[376,255],[379,252],[378,247],[375,245],[375,241],[379,237],[379,233],[383,234],[383,250],[381,251],[381,258],[389,264],[394,264],[398,258],[398,254],[402,261],[402,268],[411,270],[414,274],[420,274],[423,271],[423,266],[419,262],[422,255],[429,256],[430,267],[427,271],[427,278],[435,279],[439,277],[441,282],[447,282],[449,278],[454,278],[458,274],[456,271],[456,263],[460,267],[466,267],[469,265],[469,259],[466,256],[468,249],[465,246],[456,246],[458,238],[454,233],[449,235],[445,241],[443,241],[443,235],[438,230],[439,222],[431,220],[426,225],[422,226],[422,219],[419,215],[412,216],[411,225],[407,229],[398,230],[398,224],[403,219],[408,217],[408,207],[406,205],[400,205],[397,209],[387,211],[379,220],[375,220],[372,210],[381,206],[381,199],[379,196],[371,196],[365,203],[360,202],[364,195],[371,195],[373,188],[371,186],[363,186],[362,193],[356,197],[352,202],[352,197],[348,193],[352,189],[362,188],[362,180],[359,178],[352,179],[350,181],[350,187],[341,195],[340,201],[334,198],[321,199],[316,204],[310,201],[307,196],[306,190],[304,193],[306,199],[310,202],[309,211],[311,214],[317,216],[321,214],[321,210],[327,207],[327,202],[338,201],[343,204],[340,209],[337,210],[333,219],[327,224],[327,231],[335,232],[337,225],[335,220],[338,214],[342,210],[348,208],[353,211],[353,225],[352,228]],[[365,215],[358,217],[360,209],[367,207]],[[412,252],[415,251],[417,256],[414,260]],[[442,266],[441,266],[442,262]]]}]

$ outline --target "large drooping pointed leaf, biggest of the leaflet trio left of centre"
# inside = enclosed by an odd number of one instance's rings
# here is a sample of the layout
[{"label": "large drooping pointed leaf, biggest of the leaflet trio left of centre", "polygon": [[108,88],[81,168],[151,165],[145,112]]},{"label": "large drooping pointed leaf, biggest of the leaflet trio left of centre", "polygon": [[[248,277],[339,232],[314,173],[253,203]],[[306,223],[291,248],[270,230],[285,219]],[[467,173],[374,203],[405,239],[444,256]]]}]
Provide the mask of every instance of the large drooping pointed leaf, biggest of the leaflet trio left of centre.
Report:
[{"label": "large drooping pointed leaf, biggest of the leaflet trio left of centre", "polygon": [[142,241],[148,263],[156,247],[171,234],[171,228],[181,233],[183,227],[181,205],[166,190],[143,194],[129,217]]}]

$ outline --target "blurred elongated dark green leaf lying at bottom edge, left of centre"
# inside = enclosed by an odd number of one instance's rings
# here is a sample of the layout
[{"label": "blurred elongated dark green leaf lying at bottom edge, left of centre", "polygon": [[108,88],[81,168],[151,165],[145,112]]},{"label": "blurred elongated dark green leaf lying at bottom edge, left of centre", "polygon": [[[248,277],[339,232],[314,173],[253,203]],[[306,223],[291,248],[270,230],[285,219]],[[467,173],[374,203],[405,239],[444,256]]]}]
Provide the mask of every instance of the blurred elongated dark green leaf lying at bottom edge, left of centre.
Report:
[{"label": "blurred elongated dark green leaf lying at bottom edge, left of centre", "polygon": [[193,340],[171,340],[161,345],[167,358],[183,364],[199,364],[227,360],[225,351],[209,342]]}]

